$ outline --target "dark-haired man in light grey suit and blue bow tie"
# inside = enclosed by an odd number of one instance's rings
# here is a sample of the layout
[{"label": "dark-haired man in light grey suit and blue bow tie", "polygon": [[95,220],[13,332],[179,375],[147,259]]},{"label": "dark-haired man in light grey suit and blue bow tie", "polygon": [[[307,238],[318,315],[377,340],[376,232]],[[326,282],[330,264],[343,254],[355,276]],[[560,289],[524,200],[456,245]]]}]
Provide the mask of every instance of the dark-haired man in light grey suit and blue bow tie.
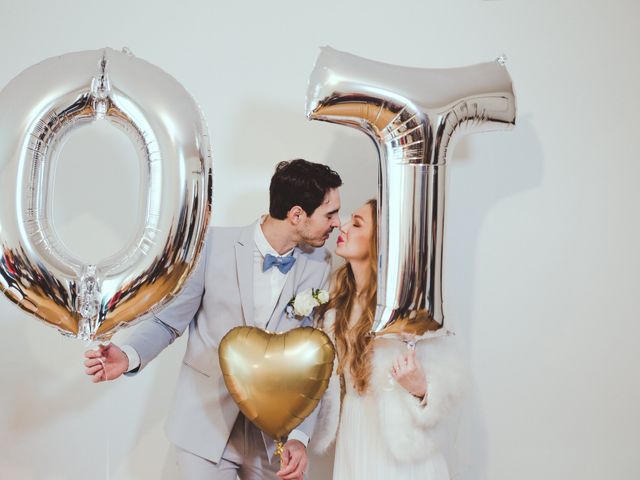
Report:
[{"label": "dark-haired man in light grey suit and blue bow tie", "polygon": [[290,435],[278,471],[274,442],[249,422],[229,395],[218,344],[232,328],[287,331],[300,326],[286,315],[289,300],[308,288],[326,288],[330,255],[322,248],[334,228],[340,176],[325,165],[281,162],[269,186],[269,215],[240,228],[212,227],[198,267],[180,295],[141,322],[121,348],[88,351],[94,382],[140,372],[189,327],[187,350],[167,434],[181,473],[202,480],[302,479],[315,412]]}]

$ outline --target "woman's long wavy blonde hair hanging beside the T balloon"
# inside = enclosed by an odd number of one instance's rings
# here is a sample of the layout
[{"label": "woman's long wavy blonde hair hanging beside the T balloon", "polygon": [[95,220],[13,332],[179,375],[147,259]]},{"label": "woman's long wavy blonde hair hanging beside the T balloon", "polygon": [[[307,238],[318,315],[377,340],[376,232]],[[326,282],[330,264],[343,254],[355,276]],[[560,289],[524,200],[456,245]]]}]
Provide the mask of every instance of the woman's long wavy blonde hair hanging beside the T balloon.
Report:
[{"label": "woman's long wavy blonde hair hanging beside the T balloon", "polygon": [[[358,296],[353,271],[347,262],[334,274],[330,300],[323,305],[323,312],[330,309],[335,311],[333,333],[338,354],[338,375],[343,377],[344,372],[349,371],[354,388],[361,394],[367,391],[371,376],[372,337],[368,334],[371,332],[376,310],[378,278],[377,202],[372,199],[367,205],[371,208],[373,228],[369,239],[369,279],[366,287]],[[360,302],[362,315],[356,324],[349,328],[351,310],[356,301]]]}]

